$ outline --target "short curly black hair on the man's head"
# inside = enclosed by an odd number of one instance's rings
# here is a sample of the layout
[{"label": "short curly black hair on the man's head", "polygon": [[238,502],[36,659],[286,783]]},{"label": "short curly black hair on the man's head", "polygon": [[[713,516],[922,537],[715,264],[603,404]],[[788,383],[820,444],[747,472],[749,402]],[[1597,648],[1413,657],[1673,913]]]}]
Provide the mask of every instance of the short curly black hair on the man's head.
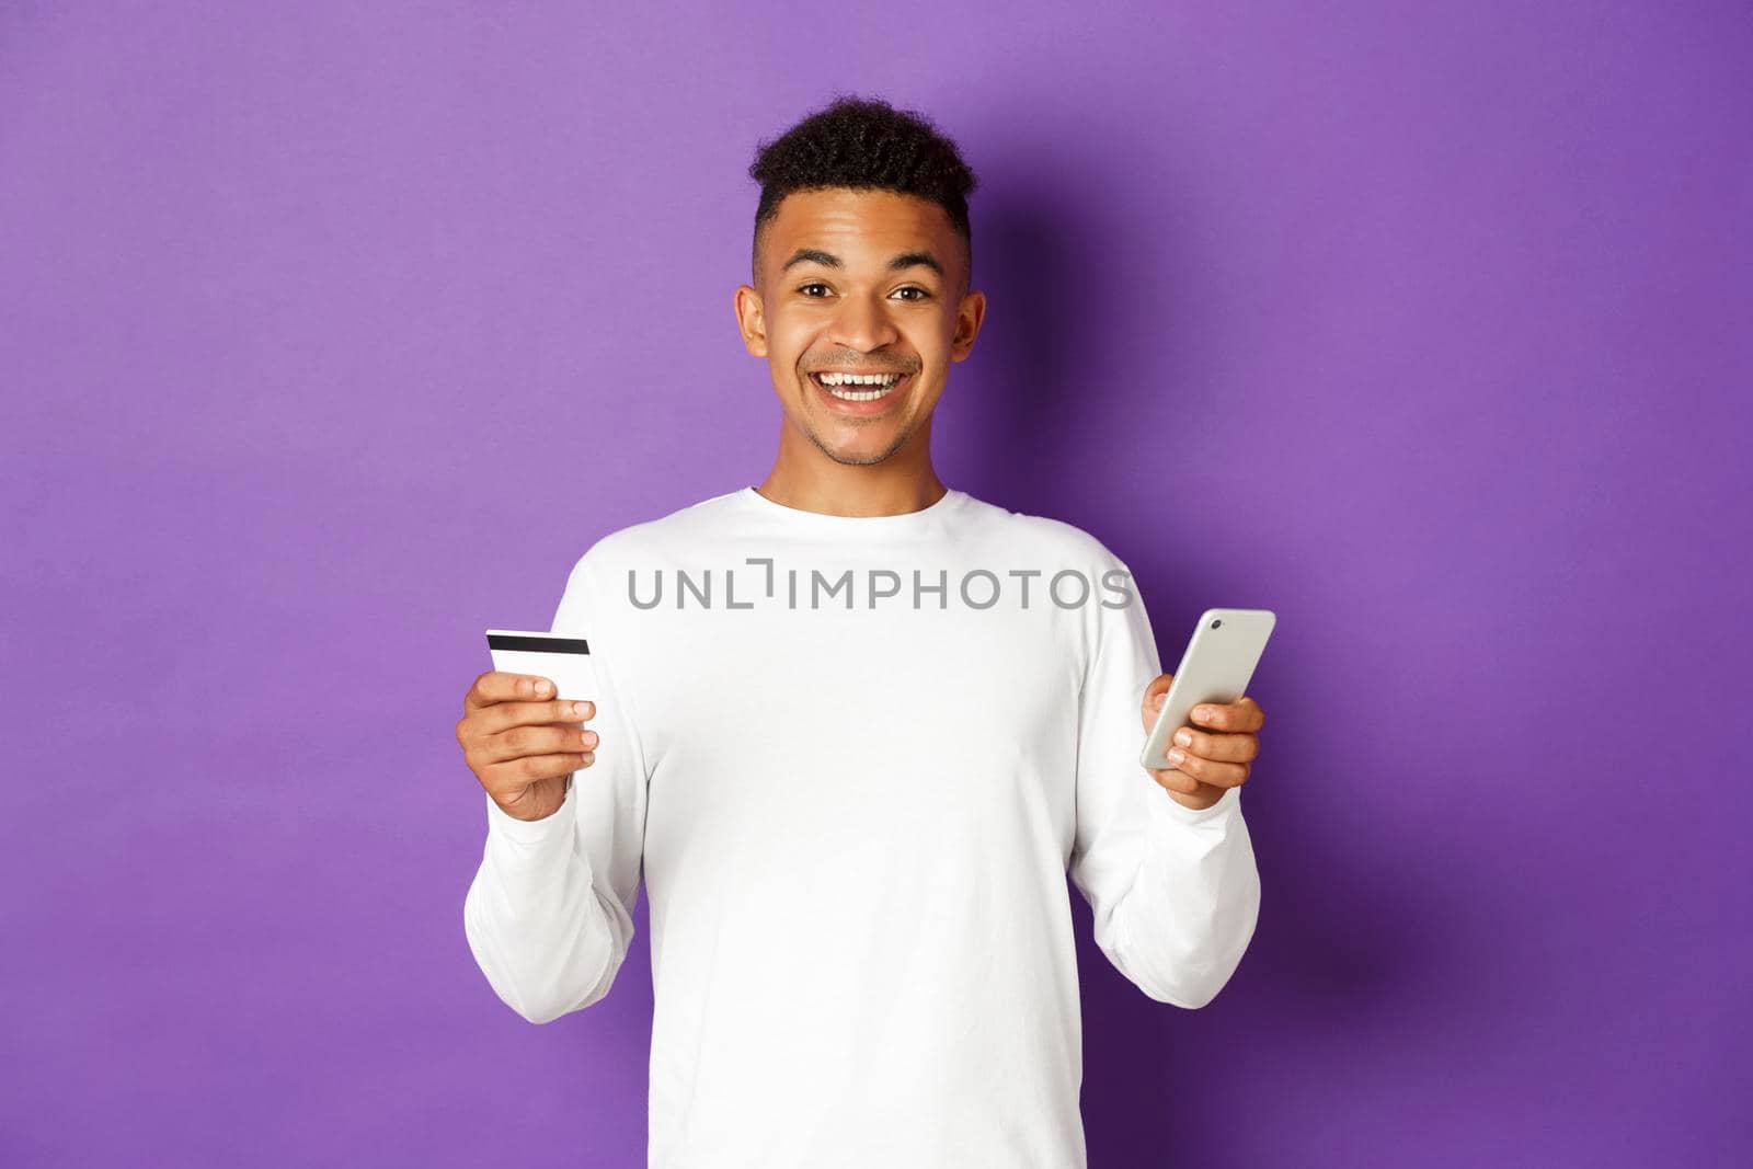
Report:
[{"label": "short curly black hair on the man's head", "polygon": [[749,177],[761,184],[756,205],[752,270],[761,275],[761,231],[792,191],[822,188],[884,189],[917,195],[941,207],[968,256],[973,282],[973,231],[968,196],[978,186],[955,142],[929,117],[898,110],[882,98],[834,95],[796,126],[761,142]]}]

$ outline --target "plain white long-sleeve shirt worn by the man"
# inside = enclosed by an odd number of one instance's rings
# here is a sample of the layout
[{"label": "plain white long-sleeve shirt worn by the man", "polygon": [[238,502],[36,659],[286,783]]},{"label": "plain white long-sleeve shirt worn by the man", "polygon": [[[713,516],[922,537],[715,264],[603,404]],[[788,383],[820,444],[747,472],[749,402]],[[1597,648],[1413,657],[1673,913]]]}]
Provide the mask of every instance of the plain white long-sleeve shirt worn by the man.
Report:
[{"label": "plain white long-sleeve shirt worn by the man", "polygon": [[743,487],[598,540],[552,629],[591,645],[596,762],[543,820],[487,801],[465,924],[549,1022],[608,994],[643,878],[650,1169],[1082,1169],[1066,873],[1159,1003],[1253,936],[1241,790],[1139,768],[1150,620],[1071,524]]}]

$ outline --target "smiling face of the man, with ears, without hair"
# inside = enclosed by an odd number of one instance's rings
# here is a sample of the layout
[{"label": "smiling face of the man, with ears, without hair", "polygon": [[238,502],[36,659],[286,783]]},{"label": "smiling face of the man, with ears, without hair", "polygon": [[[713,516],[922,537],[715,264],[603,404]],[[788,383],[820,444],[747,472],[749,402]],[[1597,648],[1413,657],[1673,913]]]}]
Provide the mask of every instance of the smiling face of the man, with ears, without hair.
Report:
[{"label": "smiling face of the man, with ears, without hair", "polygon": [[[969,354],[985,312],[983,294],[962,291],[966,263],[929,200],[847,188],[787,195],[761,240],[759,287],[736,289],[743,344],[768,359],[787,426],[847,464],[929,442],[950,363]],[[834,386],[834,372],[898,379]]]}]

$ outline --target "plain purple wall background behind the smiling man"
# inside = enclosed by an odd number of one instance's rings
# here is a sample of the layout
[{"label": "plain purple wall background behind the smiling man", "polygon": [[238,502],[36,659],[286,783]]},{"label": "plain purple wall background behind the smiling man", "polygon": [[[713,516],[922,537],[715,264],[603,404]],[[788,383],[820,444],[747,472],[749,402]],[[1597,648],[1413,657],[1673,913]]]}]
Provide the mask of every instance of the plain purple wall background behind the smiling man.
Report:
[{"label": "plain purple wall background behind the smiling man", "polygon": [[1742,4],[7,4],[0,1164],[643,1164],[643,903],[500,1004],[452,729],[766,473],[745,168],[838,89],[982,179],[945,482],[1169,661],[1280,613],[1234,980],[1075,901],[1092,1164],[1748,1164],[1749,70]]}]

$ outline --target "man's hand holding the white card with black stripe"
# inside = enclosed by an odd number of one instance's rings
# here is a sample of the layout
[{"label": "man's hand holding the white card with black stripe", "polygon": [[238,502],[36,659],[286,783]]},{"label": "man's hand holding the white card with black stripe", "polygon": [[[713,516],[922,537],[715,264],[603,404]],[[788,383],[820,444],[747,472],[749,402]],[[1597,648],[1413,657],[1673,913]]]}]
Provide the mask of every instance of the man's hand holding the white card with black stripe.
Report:
[{"label": "man's hand holding the white card with black stripe", "polygon": [[596,703],[554,699],[554,682],[489,670],[463,698],[456,741],[468,769],[505,815],[542,820],[566,799],[566,778],[596,762]]}]

